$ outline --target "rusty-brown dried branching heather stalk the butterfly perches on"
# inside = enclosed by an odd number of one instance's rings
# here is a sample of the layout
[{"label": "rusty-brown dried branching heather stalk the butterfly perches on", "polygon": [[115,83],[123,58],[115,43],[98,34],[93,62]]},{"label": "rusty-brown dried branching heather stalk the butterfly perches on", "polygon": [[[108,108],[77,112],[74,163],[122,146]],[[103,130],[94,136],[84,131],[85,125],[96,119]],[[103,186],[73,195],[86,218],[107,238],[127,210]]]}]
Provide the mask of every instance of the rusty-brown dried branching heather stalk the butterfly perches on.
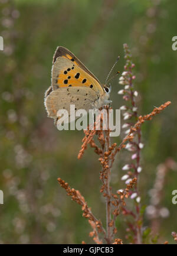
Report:
[{"label": "rusty-brown dried branching heather stalk the butterfly perches on", "polygon": [[[149,115],[139,116],[138,121],[132,128],[130,128],[129,134],[123,139],[122,143],[119,146],[117,146],[116,143],[110,143],[109,129],[105,131],[103,130],[103,127],[101,127],[99,131],[84,131],[85,137],[83,138],[83,145],[81,146],[81,151],[78,154],[78,158],[81,158],[83,156],[84,151],[89,144],[91,147],[94,148],[95,153],[99,155],[99,161],[101,164],[100,180],[102,183],[100,192],[106,198],[106,230],[104,229],[101,221],[93,215],[93,213],[91,212],[91,208],[89,208],[86,200],[81,195],[81,193],[78,190],[71,189],[68,183],[65,183],[64,180],[58,178],[58,182],[60,183],[61,187],[66,190],[67,195],[71,196],[72,200],[82,206],[83,216],[84,218],[89,219],[89,223],[93,228],[93,232],[90,233],[90,236],[93,236],[93,239],[97,244],[103,243],[103,241],[101,241],[101,239],[99,238],[100,233],[104,235],[104,240],[107,244],[118,243],[118,241],[120,244],[122,243],[121,239],[114,240],[114,235],[117,232],[115,222],[117,216],[120,214],[121,210],[124,210],[124,206],[126,205],[124,199],[127,199],[130,195],[132,195],[132,189],[136,186],[137,182],[137,179],[135,177],[126,185],[126,188],[124,190],[118,190],[117,193],[112,192],[112,188],[110,187],[110,174],[116,153],[124,148],[127,141],[133,140],[136,132],[145,121],[148,121],[152,119],[153,116],[159,114],[163,109],[169,106],[170,103],[171,102],[166,102],[159,108],[153,109],[153,111]],[[108,106],[106,106],[105,108],[107,109],[107,111],[109,110]],[[94,135],[96,135],[96,139],[100,144],[99,147],[95,142],[96,140],[93,138]]]}]

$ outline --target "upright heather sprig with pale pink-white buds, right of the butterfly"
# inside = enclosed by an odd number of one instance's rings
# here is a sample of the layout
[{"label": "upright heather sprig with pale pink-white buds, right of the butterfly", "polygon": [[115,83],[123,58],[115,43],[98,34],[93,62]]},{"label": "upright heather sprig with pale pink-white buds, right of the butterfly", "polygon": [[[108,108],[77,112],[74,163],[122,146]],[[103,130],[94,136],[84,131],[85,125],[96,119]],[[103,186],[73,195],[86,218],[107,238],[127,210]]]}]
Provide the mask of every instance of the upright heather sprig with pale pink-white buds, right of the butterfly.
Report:
[{"label": "upright heather sprig with pale pink-white buds, right of the butterfly", "polygon": [[[132,54],[130,53],[129,47],[127,44],[123,45],[124,48],[124,59],[126,60],[126,64],[124,65],[124,71],[122,76],[119,78],[119,84],[124,86],[124,89],[119,90],[118,94],[123,95],[123,100],[125,104],[120,107],[123,112],[123,125],[122,128],[125,129],[124,134],[130,134],[130,127],[135,125],[138,120],[137,115],[137,105],[136,105],[136,98],[138,96],[137,90],[135,90],[134,82],[136,79],[135,74],[133,74],[133,69],[135,64],[132,61]],[[137,184],[135,186],[135,190],[130,195],[130,198],[133,199],[135,204],[136,211],[132,213],[132,211],[126,210],[131,215],[134,216],[133,222],[127,222],[129,226],[129,230],[133,227],[132,232],[134,234],[135,243],[140,244],[142,239],[142,216],[140,215],[140,193],[138,189],[139,184],[139,173],[142,171],[142,167],[140,166],[140,151],[143,148],[142,143],[142,131],[141,127],[136,130],[136,135],[134,136],[132,141],[129,141],[126,144],[125,149],[130,151],[131,158],[129,163],[126,163],[122,170],[126,171],[127,173],[122,176],[122,180],[127,184],[130,180],[136,177]],[[135,228],[136,227],[136,228]]]}]

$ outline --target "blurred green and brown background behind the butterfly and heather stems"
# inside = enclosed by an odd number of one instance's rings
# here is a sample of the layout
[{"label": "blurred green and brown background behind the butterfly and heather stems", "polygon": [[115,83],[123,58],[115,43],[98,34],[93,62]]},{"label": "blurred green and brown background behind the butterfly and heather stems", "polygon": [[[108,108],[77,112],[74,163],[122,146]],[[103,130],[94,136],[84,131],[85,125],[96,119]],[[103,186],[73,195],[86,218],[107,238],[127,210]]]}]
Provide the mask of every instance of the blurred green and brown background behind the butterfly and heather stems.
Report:
[{"label": "blurred green and brown background behind the butterfly and heather stems", "polygon": [[[88,148],[77,160],[83,132],[61,131],[47,118],[44,92],[51,83],[51,63],[57,46],[70,49],[104,83],[110,67],[120,55],[116,69],[123,71],[123,43],[129,44],[139,91],[139,114],[172,101],[164,112],[143,125],[143,171],[140,174],[142,204],[150,205],[149,190],[156,166],[176,157],[177,51],[176,1],[172,0],[0,0],[1,76],[1,243],[91,243],[90,225],[81,209],[71,202],[57,183],[61,177],[80,190],[89,206],[105,223],[104,200],[100,196],[99,161]],[[116,70],[115,70],[116,71]],[[118,79],[112,82],[113,108],[123,105]],[[119,143],[123,137],[113,138]],[[130,154],[117,157],[112,186],[121,189],[122,166]],[[160,216],[159,241],[173,243],[177,231],[177,173],[165,177],[160,206],[169,210]],[[143,226],[152,226],[145,214]],[[126,223],[117,220],[117,237],[124,238]]]}]

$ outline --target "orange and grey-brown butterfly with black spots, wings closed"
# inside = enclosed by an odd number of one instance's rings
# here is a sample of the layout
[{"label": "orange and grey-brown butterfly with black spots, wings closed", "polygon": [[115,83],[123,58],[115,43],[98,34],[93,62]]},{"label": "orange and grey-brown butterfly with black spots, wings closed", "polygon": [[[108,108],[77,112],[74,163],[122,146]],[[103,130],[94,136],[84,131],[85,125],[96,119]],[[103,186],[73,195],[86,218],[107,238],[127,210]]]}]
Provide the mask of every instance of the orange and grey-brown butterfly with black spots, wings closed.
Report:
[{"label": "orange and grey-brown butterfly with black spots, wings closed", "polygon": [[75,110],[99,109],[110,103],[110,88],[99,80],[67,48],[59,46],[54,53],[51,86],[45,92],[44,105],[48,117],[54,118],[57,125],[57,112],[66,109],[70,114],[70,105]]}]

